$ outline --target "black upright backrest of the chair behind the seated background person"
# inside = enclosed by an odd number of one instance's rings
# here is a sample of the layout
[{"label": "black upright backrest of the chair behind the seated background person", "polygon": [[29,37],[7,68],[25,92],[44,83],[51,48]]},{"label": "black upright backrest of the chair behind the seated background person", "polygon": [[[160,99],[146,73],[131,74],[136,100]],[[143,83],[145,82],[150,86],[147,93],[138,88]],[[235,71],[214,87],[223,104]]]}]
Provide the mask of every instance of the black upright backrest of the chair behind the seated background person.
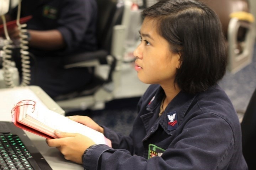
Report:
[{"label": "black upright backrest of the chair behind the seated background person", "polygon": [[122,0],[97,0],[97,39],[100,49],[110,52],[113,27],[121,24],[124,2]]}]

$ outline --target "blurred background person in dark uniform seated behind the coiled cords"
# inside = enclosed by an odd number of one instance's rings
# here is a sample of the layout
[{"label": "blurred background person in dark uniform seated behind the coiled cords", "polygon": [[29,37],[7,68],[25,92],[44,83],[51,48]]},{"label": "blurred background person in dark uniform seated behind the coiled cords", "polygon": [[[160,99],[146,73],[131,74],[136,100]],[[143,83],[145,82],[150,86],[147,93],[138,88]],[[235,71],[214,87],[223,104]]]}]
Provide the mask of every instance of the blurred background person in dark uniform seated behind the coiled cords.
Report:
[{"label": "blurred background person in dark uniform seated behind the coiled cords", "polygon": [[[32,15],[27,22],[31,57],[31,85],[42,87],[51,97],[90,84],[88,68],[64,69],[64,56],[97,49],[95,0],[22,0],[21,17]],[[16,19],[17,8],[7,18]],[[17,27],[9,29],[13,40],[19,39]],[[19,67],[20,54],[14,51]],[[34,57],[33,57],[34,56]]]}]

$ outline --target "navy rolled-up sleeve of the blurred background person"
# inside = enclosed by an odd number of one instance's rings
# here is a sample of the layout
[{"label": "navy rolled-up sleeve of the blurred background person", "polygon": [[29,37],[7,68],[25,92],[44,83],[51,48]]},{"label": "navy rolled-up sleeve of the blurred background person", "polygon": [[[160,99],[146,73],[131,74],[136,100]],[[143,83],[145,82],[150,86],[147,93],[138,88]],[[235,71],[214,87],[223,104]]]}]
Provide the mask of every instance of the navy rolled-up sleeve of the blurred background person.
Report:
[{"label": "navy rolled-up sleeve of the blurred background person", "polygon": [[[97,4],[95,0],[65,0],[62,3],[57,30],[63,35],[67,48],[65,52],[76,50],[82,41],[95,43],[95,22]],[[88,33],[88,35],[86,35]],[[89,44],[90,45],[90,44]]]}]

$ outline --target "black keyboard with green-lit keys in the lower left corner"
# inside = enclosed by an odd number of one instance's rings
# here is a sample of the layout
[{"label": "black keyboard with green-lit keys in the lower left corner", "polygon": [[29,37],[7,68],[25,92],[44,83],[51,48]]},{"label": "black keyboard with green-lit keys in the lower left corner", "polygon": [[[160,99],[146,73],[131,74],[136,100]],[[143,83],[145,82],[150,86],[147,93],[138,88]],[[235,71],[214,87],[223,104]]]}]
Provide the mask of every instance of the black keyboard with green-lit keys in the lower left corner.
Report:
[{"label": "black keyboard with green-lit keys in the lower left corner", "polygon": [[25,132],[0,121],[1,170],[52,170]]}]

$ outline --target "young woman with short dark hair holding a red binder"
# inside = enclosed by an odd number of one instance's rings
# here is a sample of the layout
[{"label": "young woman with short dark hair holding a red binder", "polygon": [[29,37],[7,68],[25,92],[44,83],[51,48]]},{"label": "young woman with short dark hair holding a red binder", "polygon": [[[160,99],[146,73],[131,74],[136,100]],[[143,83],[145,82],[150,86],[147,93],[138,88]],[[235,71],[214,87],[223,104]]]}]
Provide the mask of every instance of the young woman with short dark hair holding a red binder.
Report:
[{"label": "young woman with short dark hair holding a red binder", "polygon": [[152,85],[130,135],[74,116],[112,147],[58,130],[48,145],[86,170],[246,170],[237,114],[217,85],[227,57],[217,15],[196,0],[161,0],[143,16],[135,69]]}]

